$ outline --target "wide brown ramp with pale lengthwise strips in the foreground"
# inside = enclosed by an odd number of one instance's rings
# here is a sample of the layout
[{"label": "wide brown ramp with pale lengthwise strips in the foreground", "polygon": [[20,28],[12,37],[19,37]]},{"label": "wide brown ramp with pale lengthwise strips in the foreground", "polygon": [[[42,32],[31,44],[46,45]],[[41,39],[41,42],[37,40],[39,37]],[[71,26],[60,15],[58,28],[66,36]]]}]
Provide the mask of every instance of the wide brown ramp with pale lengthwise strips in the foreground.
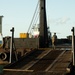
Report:
[{"label": "wide brown ramp with pale lengthwise strips in the foreground", "polygon": [[65,75],[72,61],[71,50],[36,50],[4,68],[3,75]]}]

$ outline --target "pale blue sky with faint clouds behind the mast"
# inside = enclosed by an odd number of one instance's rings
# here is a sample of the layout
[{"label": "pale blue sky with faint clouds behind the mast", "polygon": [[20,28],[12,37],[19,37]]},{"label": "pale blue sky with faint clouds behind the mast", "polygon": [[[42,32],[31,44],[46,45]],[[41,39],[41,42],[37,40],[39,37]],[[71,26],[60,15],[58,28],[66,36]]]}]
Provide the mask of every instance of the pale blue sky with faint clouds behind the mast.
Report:
[{"label": "pale blue sky with faint clouds behind the mast", "polygon": [[[3,15],[2,34],[11,36],[10,29],[15,28],[15,37],[26,33],[38,0],[0,0],[0,15]],[[58,38],[71,35],[75,26],[75,0],[46,0],[47,25]]]}]

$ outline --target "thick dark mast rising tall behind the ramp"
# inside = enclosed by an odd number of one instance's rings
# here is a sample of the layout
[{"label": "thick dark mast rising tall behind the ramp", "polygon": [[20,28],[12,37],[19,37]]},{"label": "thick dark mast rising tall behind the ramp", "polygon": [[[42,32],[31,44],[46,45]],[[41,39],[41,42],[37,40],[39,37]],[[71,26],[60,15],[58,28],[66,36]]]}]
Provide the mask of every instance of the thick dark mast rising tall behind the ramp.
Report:
[{"label": "thick dark mast rising tall behind the ramp", "polygon": [[46,19],[46,0],[40,0],[40,39],[39,47],[48,47],[48,30]]}]

